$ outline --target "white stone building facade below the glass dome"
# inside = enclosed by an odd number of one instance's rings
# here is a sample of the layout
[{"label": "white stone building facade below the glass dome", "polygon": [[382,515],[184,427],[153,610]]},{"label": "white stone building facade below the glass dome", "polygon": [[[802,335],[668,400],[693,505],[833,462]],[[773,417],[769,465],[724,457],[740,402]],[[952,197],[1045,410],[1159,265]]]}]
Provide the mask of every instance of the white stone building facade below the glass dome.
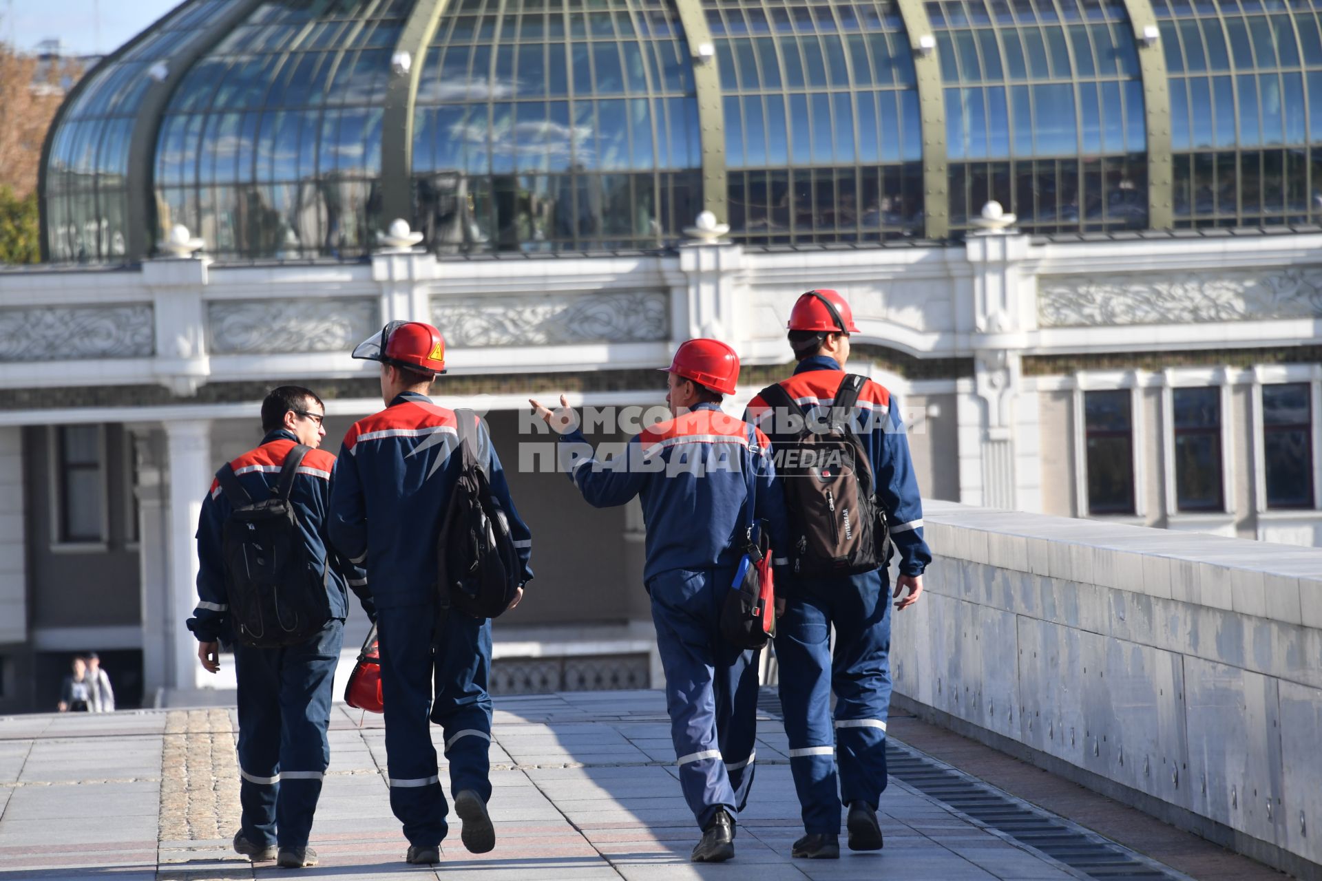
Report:
[{"label": "white stone building facade below the glass dome", "polygon": [[[1322,234],[1043,242],[1009,232],[945,247],[695,243],[591,259],[438,260],[391,251],[362,264],[164,259],[136,269],[9,271],[0,273],[0,469],[8,468],[0,485],[13,470],[13,444],[4,439],[17,427],[130,429],[147,686],[190,687],[193,646],[178,622],[192,608],[200,487],[222,452],[212,432],[254,420],[262,388],[370,380],[373,365],[349,359],[352,345],[383,321],[430,318],[449,338],[447,380],[493,383],[479,399],[447,394],[443,380],[438,394],[447,403],[516,411],[533,378],[547,376],[586,388],[570,394],[575,404],[660,403],[660,380],[633,371],[666,365],[694,335],[726,339],[746,369],[785,365],[795,297],[829,287],[853,305],[861,328],[854,345],[890,353],[851,366],[899,396],[928,495],[1087,511],[1081,396],[1128,388],[1129,520],[1319,544],[1322,512],[1266,507],[1259,400],[1264,383],[1310,383],[1313,461],[1322,461],[1322,367],[1305,349],[1319,338],[1319,255]],[[594,391],[596,374],[613,379]],[[1223,390],[1227,503],[1191,515],[1171,501],[1169,398],[1199,384]],[[208,386],[230,391],[208,396]],[[740,412],[759,387],[740,387],[728,408]],[[365,388],[328,399],[328,413],[352,420],[378,409]],[[328,448],[336,445],[328,437]],[[24,609],[4,586],[26,577],[13,552],[22,547],[15,531],[24,502],[21,494],[5,498],[0,602]],[[1322,485],[1313,498],[1322,499]],[[621,546],[629,535],[625,526]],[[9,630],[5,639],[22,642],[21,627]]]}]

